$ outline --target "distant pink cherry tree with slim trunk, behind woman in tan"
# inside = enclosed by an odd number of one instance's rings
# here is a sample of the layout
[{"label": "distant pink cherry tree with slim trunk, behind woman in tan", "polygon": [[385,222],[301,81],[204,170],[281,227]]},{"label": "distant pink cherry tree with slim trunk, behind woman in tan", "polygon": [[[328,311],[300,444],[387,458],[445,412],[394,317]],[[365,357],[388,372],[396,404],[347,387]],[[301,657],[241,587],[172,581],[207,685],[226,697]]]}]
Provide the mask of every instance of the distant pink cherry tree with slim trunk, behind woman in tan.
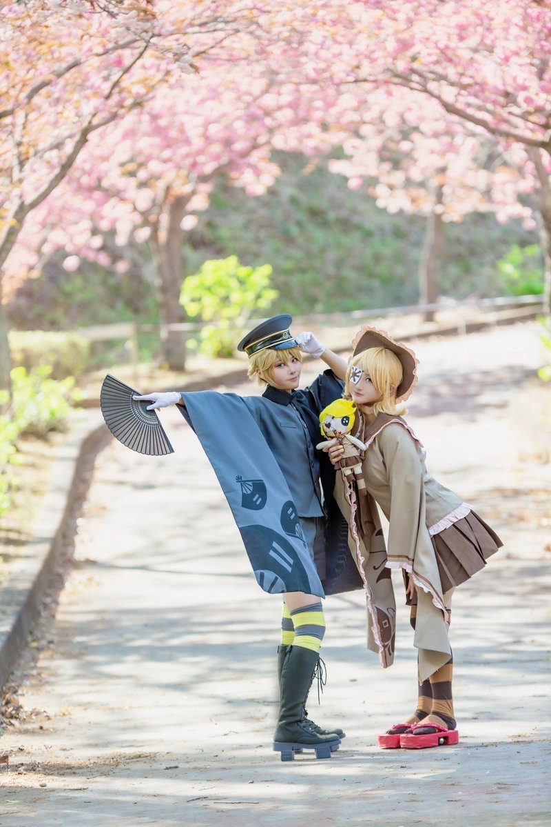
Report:
[{"label": "distant pink cherry tree with slim trunk, behind woman in tan", "polygon": [[[378,207],[389,213],[425,216],[420,304],[437,300],[437,264],[447,222],[492,212],[501,221],[522,218],[526,228],[534,227],[531,208],[519,200],[531,189],[530,182],[484,131],[466,130],[460,119],[443,117],[432,102],[404,112],[401,100],[389,100],[385,90],[372,93],[359,115],[365,120],[344,141],[345,158],[331,160],[330,170],[346,175],[350,189],[367,185]],[[433,315],[427,311],[425,318]]]}]

